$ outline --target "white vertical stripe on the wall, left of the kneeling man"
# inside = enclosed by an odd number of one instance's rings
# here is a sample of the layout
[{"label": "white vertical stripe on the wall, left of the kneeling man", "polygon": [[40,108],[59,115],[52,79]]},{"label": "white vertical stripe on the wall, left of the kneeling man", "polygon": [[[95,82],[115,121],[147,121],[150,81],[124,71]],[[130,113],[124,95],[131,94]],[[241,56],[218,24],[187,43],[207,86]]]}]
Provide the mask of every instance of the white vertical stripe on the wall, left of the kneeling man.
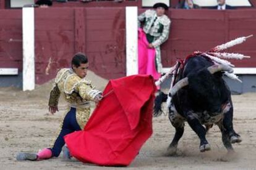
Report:
[{"label": "white vertical stripe on the wall, left of the kneeling man", "polygon": [[35,20],[34,8],[22,8],[23,91],[35,89]]}]

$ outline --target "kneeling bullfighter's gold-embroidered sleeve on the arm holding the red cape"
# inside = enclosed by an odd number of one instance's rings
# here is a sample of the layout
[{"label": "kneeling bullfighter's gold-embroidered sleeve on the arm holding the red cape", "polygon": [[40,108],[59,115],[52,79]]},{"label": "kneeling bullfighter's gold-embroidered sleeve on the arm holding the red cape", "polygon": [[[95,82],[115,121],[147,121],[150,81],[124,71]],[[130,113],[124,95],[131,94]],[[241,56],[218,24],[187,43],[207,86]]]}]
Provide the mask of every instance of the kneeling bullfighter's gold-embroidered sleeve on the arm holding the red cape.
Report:
[{"label": "kneeling bullfighter's gold-embroidered sleeve on the arm holding the red cape", "polygon": [[85,100],[95,100],[96,95],[101,94],[101,91],[96,90],[88,81],[81,81],[77,86],[79,95]]}]

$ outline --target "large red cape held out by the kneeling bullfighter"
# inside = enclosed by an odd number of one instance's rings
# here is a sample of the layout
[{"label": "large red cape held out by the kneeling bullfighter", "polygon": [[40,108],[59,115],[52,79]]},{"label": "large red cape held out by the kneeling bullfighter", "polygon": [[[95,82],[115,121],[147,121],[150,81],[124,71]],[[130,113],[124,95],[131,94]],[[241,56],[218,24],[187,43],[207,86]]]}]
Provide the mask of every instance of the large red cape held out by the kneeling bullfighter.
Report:
[{"label": "large red cape held out by the kneeling bullfighter", "polygon": [[83,131],[64,137],[85,163],[127,166],[152,134],[155,84],[148,75],[110,80]]}]

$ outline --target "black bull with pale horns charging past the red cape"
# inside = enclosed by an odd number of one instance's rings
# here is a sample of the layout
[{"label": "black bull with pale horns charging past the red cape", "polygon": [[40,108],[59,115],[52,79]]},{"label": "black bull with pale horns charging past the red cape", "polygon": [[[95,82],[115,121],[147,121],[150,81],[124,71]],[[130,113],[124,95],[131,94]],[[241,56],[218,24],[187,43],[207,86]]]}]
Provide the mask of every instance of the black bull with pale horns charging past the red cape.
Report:
[{"label": "black bull with pale horns charging past the red cape", "polygon": [[[206,127],[217,124],[220,127],[224,147],[233,151],[232,144],[241,142],[233,129],[233,103],[231,92],[224,82],[223,71],[232,72],[227,65],[215,65],[204,56],[190,57],[184,68],[177,73],[174,86],[169,92],[169,120],[176,129],[168,147],[169,155],[176,153],[179,139],[184,132],[184,122],[195,131],[200,139],[200,152],[210,150],[205,138]],[[156,97],[154,114],[161,112],[161,103],[167,95],[160,92]]]}]

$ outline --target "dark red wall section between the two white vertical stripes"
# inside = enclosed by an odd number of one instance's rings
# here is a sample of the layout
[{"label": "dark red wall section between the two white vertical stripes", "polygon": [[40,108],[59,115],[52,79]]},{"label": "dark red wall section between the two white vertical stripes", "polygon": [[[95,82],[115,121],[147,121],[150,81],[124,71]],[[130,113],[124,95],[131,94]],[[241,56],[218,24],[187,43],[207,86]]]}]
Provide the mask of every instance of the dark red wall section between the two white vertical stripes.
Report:
[{"label": "dark red wall section between the two white vertical stripes", "polygon": [[70,67],[76,52],[88,55],[98,75],[124,76],[125,41],[124,7],[35,9],[36,83]]}]

